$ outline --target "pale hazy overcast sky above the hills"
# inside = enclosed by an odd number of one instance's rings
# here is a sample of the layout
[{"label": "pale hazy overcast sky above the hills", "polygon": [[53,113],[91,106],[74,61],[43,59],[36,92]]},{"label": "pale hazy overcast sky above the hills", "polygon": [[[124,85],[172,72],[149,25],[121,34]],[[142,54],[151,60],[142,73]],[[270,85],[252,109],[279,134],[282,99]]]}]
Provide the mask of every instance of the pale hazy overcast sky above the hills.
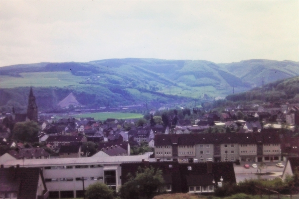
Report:
[{"label": "pale hazy overcast sky above the hills", "polygon": [[299,0],[0,0],[0,66],[128,57],[299,61]]}]

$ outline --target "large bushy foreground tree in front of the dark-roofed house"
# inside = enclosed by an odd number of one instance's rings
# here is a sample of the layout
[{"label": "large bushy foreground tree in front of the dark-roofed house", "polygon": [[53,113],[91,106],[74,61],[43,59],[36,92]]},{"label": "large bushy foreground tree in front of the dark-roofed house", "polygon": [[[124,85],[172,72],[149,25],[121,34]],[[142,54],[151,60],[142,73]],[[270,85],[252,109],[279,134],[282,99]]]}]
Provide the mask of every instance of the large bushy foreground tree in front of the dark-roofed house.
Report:
[{"label": "large bushy foreground tree in front of the dark-roofed house", "polygon": [[120,189],[120,196],[123,199],[151,199],[163,191],[164,180],[159,169],[139,167],[135,177],[131,174],[128,177],[129,181]]}]

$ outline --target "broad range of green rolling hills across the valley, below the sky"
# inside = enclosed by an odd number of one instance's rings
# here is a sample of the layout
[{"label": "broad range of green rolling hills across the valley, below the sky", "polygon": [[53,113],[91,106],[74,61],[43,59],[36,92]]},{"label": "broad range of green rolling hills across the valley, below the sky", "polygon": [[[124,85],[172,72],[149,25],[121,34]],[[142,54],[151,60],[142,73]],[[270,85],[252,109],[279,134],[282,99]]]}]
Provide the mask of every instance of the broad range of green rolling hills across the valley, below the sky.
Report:
[{"label": "broad range of green rolling hills across the valley, below the sky", "polygon": [[30,85],[43,99],[40,109],[47,109],[71,92],[79,103],[88,106],[169,103],[202,99],[204,94],[225,97],[232,93],[232,87],[238,93],[258,86],[263,77],[267,83],[297,75],[298,62],[272,60],[215,64],[126,58],[20,64],[0,68],[0,106],[24,107],[26,100],[18,99],[23,99],[23,90]]}]

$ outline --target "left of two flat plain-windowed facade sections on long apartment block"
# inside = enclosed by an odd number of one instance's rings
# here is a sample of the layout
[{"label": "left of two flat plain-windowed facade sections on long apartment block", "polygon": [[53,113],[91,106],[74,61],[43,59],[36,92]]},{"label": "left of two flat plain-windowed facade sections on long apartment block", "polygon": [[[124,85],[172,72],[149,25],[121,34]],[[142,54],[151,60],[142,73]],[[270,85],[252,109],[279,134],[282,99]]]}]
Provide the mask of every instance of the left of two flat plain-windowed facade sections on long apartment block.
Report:
[{"label": "left of two flat plain-windowed facade sections on long apartment block", "polygon": [[214,145],[213,144],[196,144],[195,156],[199,162],[206,162],[212,159],[214,161]]}]

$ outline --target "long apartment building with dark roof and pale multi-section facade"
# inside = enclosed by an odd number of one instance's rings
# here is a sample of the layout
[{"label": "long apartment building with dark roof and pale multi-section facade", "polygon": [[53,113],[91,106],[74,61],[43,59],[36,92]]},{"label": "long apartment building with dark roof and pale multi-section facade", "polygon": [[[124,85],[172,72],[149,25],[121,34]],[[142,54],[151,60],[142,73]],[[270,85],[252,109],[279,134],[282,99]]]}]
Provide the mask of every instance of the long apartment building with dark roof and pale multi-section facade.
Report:
[{"label": "long apartment building with dark roof and pale multi-section facade", "polygon": [[156,135],[155,158],[178,162],[278,162],[281,144],[276,132]]}]

